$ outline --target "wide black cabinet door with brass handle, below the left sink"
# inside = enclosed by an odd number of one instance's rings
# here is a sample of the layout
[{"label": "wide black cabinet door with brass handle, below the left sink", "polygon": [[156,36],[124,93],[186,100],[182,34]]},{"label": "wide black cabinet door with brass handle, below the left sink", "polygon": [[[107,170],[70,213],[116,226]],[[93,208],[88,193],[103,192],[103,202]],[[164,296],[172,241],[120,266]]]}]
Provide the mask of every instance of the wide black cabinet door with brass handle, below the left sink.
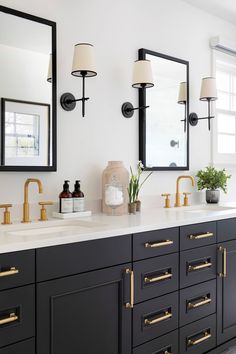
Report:
[{"label": "wide black cabinet door with brass handle, below the left sink", "polygon": [[130,354],[130,264],[37,286],[37,354]]}]

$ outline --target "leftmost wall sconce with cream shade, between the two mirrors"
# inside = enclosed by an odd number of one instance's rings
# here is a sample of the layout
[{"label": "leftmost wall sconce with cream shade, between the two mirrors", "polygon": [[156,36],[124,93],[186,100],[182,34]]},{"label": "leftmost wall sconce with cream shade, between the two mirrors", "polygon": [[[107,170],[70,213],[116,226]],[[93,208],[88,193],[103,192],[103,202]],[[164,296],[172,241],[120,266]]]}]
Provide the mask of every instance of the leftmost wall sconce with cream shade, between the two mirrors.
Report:
[{"label": "leftmost wall sconce with cream shade, between the two mirrors", "polygon": [[72,111],[76,102],[82,102],[82,116],[85,116],[85,101],[89,97],[85,97],[85,78],[97,75],[94,57],[94,47],[89,43],[79,43],[74,48],[74,58],[71,75],[82,77],[82,98],[76,99],[75,96],[66,92],[61,96],[60,103],[65,111]]}]

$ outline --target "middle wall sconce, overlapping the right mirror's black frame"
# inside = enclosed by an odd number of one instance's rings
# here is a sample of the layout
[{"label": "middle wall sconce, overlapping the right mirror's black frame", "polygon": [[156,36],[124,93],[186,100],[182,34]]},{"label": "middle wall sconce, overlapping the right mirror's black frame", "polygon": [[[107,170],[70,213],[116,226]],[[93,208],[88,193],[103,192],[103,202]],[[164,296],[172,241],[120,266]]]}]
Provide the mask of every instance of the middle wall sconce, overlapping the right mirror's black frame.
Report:
[{"label": "middle wall sconce, overlapping the right mirror's black frame", "polygon": [[[134,62],[132,86],[138,89],[146,89],[154,86],[150,60],[136,60]],[[121,107],[121,111],[125,118],[131,118],[134,111],[148,107],[149,106],[142,106],[134,108],[132,103],[125,102]]]}]

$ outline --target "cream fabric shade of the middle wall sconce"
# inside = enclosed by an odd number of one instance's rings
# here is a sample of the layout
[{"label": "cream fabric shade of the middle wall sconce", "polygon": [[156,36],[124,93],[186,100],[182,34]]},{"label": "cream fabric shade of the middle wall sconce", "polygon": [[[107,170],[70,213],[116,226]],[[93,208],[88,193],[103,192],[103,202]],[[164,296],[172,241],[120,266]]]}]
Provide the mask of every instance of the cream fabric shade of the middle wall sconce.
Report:
[{"label": "cream fabric shade of the middle wall sconce", "polygon": [[150,60],[136,60],[133,71],[133,87],[153,87],[152,66]]}]

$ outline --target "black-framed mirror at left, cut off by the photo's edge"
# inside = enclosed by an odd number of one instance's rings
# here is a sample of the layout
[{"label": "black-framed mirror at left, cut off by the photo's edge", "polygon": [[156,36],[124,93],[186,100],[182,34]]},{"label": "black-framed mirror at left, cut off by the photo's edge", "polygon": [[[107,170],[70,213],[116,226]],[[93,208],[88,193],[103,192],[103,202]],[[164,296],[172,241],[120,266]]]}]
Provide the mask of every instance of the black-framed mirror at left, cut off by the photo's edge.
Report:
[{"label": "black-framed mirror at left, cut off by the photo's edge", "polygon": [[0,6],[0,171],[56,171],[56,23]]}]

